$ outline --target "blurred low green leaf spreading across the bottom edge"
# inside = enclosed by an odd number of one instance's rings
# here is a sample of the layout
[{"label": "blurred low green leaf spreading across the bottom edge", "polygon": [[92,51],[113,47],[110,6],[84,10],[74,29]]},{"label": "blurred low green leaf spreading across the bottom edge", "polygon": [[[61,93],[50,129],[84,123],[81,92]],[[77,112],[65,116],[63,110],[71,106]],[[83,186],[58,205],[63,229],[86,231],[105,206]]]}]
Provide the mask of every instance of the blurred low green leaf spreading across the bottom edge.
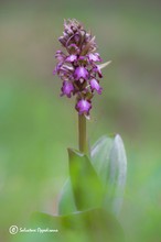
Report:
[{"label": "blurred low green leaf spreading across the bottom edge", "polygon": [[49,229],[57,232],[14,234],[15,242],[122,242],[124,233],[116,218],[104,209],[92,209],[69,216],[50,216],[35,212],[30,229]]}]

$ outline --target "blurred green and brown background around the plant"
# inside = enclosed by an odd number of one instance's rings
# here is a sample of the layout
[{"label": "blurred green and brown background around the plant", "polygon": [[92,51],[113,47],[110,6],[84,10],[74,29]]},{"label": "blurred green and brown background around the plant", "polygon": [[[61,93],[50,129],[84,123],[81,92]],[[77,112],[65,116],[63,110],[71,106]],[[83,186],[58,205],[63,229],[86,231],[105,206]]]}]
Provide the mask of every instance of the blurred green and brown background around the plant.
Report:
[{"label": "blurred green and brown background around the plant", "polygon": [[0,241],[35,210],[56,212],[77,147],[74,100],[52,75],[63,20],[96,35],[104,92],[95,97],[88,136],[120,133],[128,156],[119,220],[128,242],[161,241],[161,2],[0,1]]}]

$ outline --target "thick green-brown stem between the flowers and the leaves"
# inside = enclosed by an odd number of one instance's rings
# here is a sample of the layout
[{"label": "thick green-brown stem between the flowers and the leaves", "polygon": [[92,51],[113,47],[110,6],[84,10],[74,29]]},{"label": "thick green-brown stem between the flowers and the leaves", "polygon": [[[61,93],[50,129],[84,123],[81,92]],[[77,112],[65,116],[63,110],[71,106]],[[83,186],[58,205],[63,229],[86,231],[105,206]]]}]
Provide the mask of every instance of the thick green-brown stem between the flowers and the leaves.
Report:
[{"label": "thick green-brown stem between the flowers and the leaves", "polygon": [[78,145],[80,152],[87,152],[86,118],[84,114],[78,114]]}]

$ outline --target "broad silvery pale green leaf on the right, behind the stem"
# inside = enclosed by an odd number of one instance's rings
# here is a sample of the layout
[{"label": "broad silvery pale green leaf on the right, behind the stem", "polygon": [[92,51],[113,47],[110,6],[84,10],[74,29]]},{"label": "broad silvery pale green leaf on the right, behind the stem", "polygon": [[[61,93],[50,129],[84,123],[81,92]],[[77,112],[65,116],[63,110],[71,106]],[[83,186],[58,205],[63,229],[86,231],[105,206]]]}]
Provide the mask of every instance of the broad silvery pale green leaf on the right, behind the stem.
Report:
[{"label": "broad silvery pale green leaf on the right, behind the stem", "polygon": [[92,148],[92,163],[106,187],[104,207],[118,213],[126,184],[127,158],[121,138],[100,138]]}]

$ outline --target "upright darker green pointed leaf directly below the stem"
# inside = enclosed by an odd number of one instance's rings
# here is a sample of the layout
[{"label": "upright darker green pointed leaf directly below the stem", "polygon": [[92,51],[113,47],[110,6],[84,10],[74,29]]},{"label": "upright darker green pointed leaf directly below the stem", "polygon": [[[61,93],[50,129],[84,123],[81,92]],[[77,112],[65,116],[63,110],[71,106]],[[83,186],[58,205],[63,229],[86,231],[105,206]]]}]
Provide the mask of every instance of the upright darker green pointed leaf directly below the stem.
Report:
[{"label": "upright darker green pointed leaf directly below the stem", "polygon": [[69,176],[78,210],[100,207],[103,204],[103,183],[88,157],[75,150],[68,150]]}]

